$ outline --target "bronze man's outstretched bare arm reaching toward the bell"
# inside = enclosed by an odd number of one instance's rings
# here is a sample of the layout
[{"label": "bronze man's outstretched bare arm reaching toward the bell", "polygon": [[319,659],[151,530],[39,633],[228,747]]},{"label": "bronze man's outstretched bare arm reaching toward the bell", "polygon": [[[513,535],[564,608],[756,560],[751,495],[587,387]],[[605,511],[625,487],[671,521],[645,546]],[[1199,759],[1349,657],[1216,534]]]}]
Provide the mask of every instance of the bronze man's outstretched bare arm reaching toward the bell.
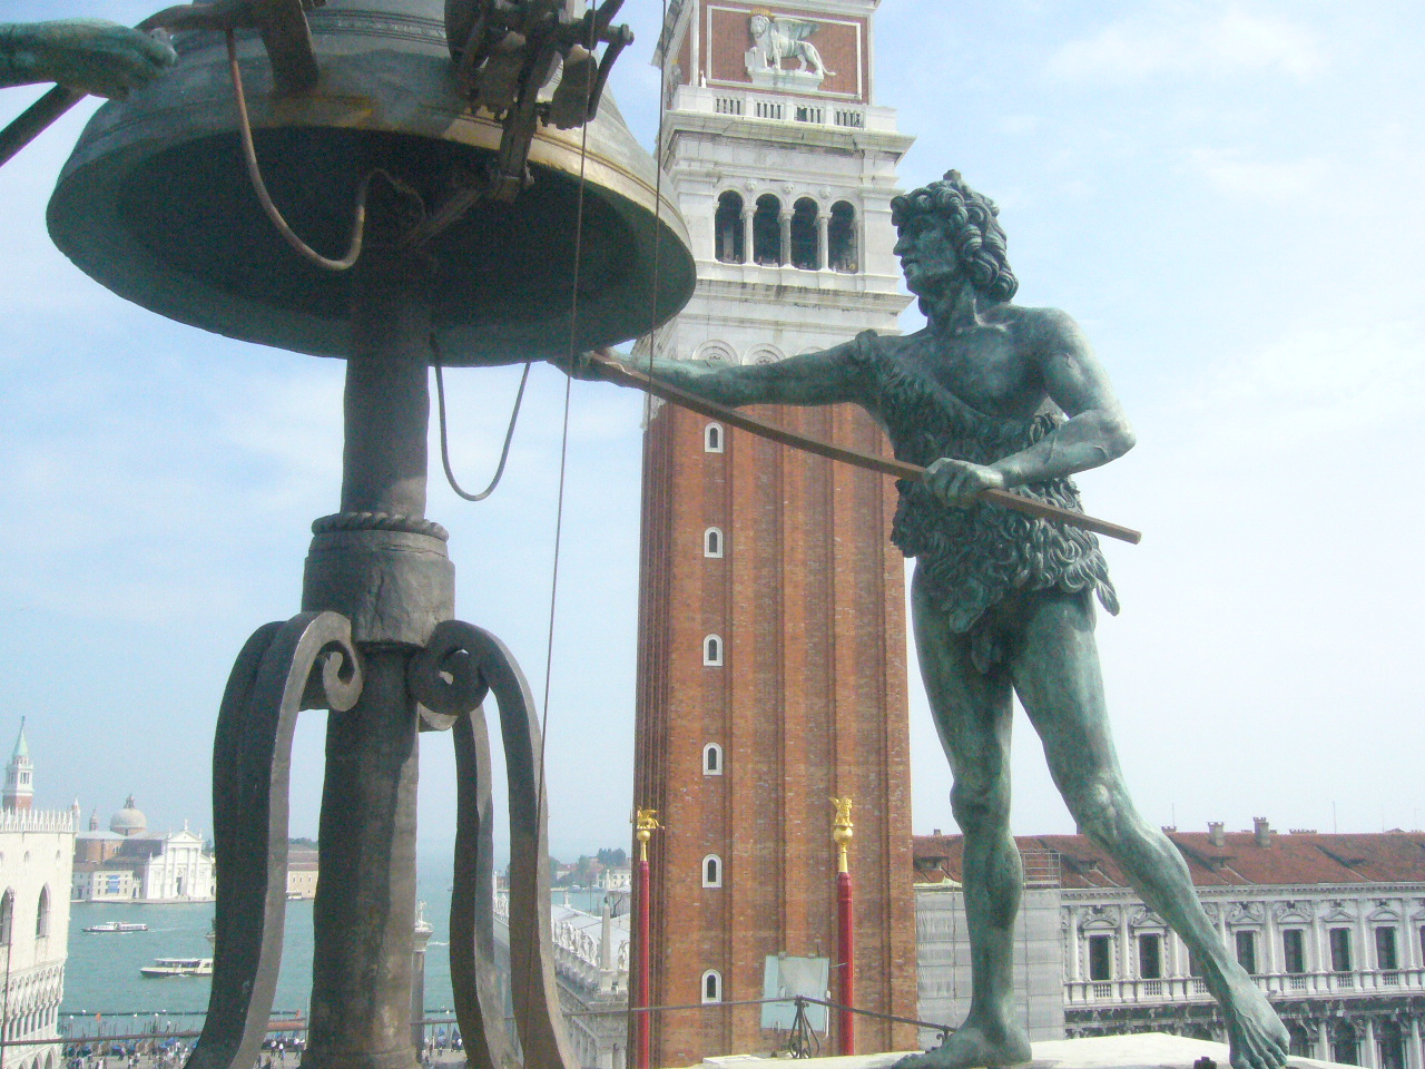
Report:
[{"label": "bronze man's outstretched bare arm reaching toward the bell", "polygon": [[[855,342],[821,352],[788,356],[775,363],[724,363],[721,361],[636,359],[603,351],[624,366],[697,393],[718,405],[835,405],[861,401],[862,372],[851,359]],[[576,378],[601,378],[596,365],[580,359]]]}]

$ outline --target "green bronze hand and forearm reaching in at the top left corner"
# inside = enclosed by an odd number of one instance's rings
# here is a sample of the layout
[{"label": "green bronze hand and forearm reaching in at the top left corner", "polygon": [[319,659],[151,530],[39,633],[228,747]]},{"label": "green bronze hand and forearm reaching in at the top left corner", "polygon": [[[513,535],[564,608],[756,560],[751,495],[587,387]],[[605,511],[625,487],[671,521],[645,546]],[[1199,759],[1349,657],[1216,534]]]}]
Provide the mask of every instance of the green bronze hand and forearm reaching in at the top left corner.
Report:
[{"label": "green bronze hand and forearm reaching in at the top left corner", "polygon": [[167,41],[104,19],[0,23],[0,86],[57,81],[100,97],[127,97],[177,58]]}]

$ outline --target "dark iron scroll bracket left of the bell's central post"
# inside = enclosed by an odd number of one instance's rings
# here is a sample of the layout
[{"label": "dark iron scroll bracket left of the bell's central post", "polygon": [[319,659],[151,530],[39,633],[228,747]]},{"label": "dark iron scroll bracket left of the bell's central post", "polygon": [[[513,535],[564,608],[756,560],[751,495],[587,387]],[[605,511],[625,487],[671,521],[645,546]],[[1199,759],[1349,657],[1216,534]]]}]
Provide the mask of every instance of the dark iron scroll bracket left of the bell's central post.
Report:
[{"label": "dark iron scroll bracket left of the bell's central post", "polygon": [[296,714],[345,713],[361,691],[351,620],[339,613],[265,624],[238,654],[212,744],[212,991],[187,1069],[249,1069],[258,1060],[282,964]]}]

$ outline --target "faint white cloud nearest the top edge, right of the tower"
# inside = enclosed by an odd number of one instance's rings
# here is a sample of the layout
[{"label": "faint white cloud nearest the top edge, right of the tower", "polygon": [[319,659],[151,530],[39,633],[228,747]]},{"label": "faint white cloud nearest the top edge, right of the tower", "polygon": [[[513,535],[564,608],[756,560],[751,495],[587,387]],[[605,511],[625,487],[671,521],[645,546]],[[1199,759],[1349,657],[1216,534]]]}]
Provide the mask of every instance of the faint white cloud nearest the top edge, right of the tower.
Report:
[{"label": "faint white cloud nearest the top edge, right of the tower", "polygon": [[1049,73],[1074,81],[1255,71],[1310,78],[1324,64],[1315,34],[1278,16],[1160,4],[1060,46],[1049,60]]}]

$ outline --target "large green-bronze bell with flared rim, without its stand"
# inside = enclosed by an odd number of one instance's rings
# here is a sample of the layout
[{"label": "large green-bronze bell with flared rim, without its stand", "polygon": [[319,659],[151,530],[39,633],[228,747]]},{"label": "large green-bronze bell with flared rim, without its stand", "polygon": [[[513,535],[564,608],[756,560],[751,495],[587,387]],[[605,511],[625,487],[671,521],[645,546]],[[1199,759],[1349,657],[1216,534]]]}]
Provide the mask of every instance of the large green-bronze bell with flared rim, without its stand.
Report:
[{"label": "large green-bronze bell with flared rim, without its stand", "polygon": [[[452,180],[489,162],[502,127],[460,91],[442,0],[329,0],[306,17],[314,90],[275,94],[256,33],[239,34],[238,51],[272,200],[294,231],[335,257],[365,174],[382,168],[433,205]],[[161,315],[345,356],[352,275],[294,257],[262,217],[238,147],[224,36],[184,31],[174,46],[180,60],[167,77],[90,121],[50,201],[54,242]],[[624,341],[693,292],[683,222],[657,202],[653,158],[611,100],[587,130],[540,127],[529,162],[534,181],[514,202],[475,205],[429,248],[423,296],[450,363]]]}]

